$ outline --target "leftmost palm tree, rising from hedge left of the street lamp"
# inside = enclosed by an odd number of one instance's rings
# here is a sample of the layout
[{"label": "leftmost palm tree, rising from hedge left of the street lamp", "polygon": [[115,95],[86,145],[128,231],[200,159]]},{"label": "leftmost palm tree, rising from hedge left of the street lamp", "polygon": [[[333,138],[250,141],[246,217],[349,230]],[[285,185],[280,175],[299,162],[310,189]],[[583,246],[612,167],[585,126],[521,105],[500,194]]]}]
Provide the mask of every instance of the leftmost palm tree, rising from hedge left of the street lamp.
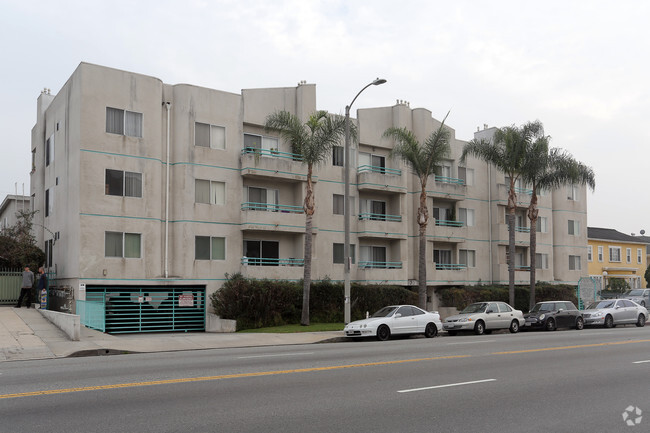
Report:
[{"label": "leftmost palm tree, rising from hedge left of the street lamp", "polygon": [[277,111],[266,118],[265,129],[275,130],[291,144],[293,153],[307,164],[307,186],[303,210],[305,212],[305,253],[302,290],[302,315],[300,324],[309,325],[309,291],[311,287],[312,218],[316,210],[312,173],[315,165],[323,163],[330,155],[332,146],[338,144],[345,132],[345,119],[327,111],[317,111],[302,121],[287,111]]}]

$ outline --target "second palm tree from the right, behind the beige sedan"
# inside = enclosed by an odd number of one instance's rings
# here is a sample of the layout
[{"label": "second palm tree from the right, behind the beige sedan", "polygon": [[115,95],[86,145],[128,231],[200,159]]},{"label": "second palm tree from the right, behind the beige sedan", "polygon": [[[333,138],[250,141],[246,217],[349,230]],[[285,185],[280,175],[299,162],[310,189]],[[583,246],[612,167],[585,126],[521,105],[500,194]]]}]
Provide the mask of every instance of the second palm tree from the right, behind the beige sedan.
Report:
[{"label": "second palm tree from the right, behind the beige sedan", "polygon": [[508,298],[515,304],[515,210],[517,192],[515,184],[522,176],[526,164],[526,154],[532,143],[541,138],[544,129],[541,122],[528,122],[524,125],[497,128],[491,140],[474,139],[463,148],[461,162],[468,155],[494,165],[509,178],[508,187]]}]

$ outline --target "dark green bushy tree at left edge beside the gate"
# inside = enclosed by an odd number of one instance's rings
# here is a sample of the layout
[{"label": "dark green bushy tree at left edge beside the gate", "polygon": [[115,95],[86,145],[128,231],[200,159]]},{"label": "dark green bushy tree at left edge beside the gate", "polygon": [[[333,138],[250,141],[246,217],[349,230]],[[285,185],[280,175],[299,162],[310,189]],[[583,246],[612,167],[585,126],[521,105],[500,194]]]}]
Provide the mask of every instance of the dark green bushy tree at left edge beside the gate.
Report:
[{"label": "dark green bushy tree at left edge beside the gate", "polygon": [[45,253],[36,246],[32,234],[33,218],[36,211],[16,212],[17,221],[11,227],[0,231],[0,266],[22,269],[29,266],[38,269],[45,262]]}]

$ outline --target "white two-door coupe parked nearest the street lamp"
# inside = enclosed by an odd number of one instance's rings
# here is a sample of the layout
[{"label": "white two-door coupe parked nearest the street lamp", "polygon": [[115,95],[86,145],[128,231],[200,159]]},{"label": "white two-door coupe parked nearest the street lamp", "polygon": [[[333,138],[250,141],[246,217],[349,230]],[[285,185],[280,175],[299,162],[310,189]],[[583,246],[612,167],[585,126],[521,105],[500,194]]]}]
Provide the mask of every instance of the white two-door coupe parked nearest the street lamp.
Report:
[{"label": "white two-door coupe parked nearest the street lamp", "polygon": [[346,337],[377,337],[388,340],[391,335],[424,334],[427,338],[438,335],[442,329],[440,314],[427,312],[413,305],[384,307],[367,319],[345,325]]}]

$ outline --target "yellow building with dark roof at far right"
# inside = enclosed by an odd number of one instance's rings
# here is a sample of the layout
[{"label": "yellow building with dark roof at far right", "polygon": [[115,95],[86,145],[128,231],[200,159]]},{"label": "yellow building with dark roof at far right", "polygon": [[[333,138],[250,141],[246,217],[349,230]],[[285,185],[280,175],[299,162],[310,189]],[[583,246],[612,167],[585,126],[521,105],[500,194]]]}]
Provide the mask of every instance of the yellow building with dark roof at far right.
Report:
[{"label": "yellow building with dark roof at far right", "polygon": [[[646,287],[648,242],[641,236],[630,236],[614,229],[587,227],[587,262],[589,276],[609,285],[611,278],[622,278],[632,289]],[[604,281],[604,284],[603,284]]]}]

